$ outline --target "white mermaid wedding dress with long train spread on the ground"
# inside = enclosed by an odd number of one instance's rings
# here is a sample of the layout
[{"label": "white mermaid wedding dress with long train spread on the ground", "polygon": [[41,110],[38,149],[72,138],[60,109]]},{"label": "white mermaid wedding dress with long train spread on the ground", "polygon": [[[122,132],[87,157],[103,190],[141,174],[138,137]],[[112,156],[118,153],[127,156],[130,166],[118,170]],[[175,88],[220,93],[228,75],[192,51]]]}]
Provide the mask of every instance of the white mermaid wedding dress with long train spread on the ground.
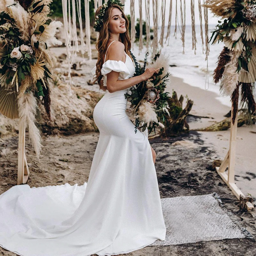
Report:
[{"label": "white mermaid wedding dress with long train spread on the ground", "polygon": [[[106,76],[135,68],[107,60]],[[92,73],[95,68],[92,70]],[[100,130],[89,179],[82,186],[16,185],[0,195],[0,246],[22,256],[116,255],[164,240],[166,228],[150,144],[125,113],[128,89],[94,108]]]}]

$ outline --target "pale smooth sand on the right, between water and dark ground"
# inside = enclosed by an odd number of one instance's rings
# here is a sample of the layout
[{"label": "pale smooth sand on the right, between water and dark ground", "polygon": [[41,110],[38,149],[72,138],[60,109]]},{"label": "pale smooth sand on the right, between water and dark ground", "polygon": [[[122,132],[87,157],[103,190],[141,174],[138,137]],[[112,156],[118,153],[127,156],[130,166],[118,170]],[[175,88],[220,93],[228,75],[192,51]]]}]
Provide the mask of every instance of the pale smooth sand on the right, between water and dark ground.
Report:
[{"label": "pale smooth sand on the right, between water and dark ground", "polygon": [[[172,70],[170,68],[170,70]],[[194,101],[190,114],[195,116],[207,116],[209,118],[198,118],[189,122],[191,130],[205,128],[215,122],[225,119],[225,115],[230,108],[220,103],[216,98],[219,97],[215,92],[200,89],[183,83],[182,79],[171,78],[169,89]],[[219,132],[198,132],[204,140],[204,146],[216,151],[216,156],[223,160],[229,148],[230,129]],[[256,125],[243,125],[237,128],[236,138],[236,169],[235,180],[236,186],[242,190],[244,195],[250,193],[256,198]],[[255,199],[256,200],[256,199]]]}]

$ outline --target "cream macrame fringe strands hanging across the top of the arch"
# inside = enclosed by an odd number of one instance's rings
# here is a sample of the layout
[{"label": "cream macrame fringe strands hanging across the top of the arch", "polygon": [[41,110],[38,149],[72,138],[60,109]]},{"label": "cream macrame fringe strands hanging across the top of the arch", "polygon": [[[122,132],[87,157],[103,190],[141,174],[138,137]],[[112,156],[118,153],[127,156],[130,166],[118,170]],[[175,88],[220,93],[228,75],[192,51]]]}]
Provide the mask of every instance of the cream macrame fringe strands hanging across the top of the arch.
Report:
[{"label": "cream macrame fringe strands hanging across the top of the arch", "polygon": [[[81,0],[62,0],[62,11],[63,11],[63,23],[64,23],[64,32],[65,32],[65,46],[67,49],[67,59],[68,59],[68,77],[69,77],[69,92],[71,93],[71,65],[73,64],[74,57],[76,53],[79,52],[81,49],[81,53],[84,57],[84,53],[87,52],[89,60],[92,60],[92,50],[91,50],[91,42],[90,42],[90,14],[89,14],[89,1],[84,0],[84,12],[85,12],[85,42],[84,42],[84,31],[83,26],[84,22],[82,21],[82,11],[81,10]],[[167,27],[167,34],[165,37],[165,43],[170,40],[171,35],[171,22],[172,22],[172,1],[170,0],[170,8],[169,8],[169,18],[168,18],[168,27]],[[214,0],[213,0],[214,1]],[[105,0],[104,2],[107,2]],[[125,0],[121,0],[122,4],[125,4]],[[102,0],[94,0],[94,9],[96,10],[100,5],[102,5]],[[203,0],[205,4],[205,0]],[[145,0],[145,10],[142,8],[142,0],[139,0],[138,3],[139,8],[139,24],[140,24],[140,35],[139,35],[139,54],[143,49],[144,43],[146,43],[147,51],[150,51],[149,48],[152,49],[152,54],[156,54],[159,52],[158,44],[160,44],[161,49],[164,47],[164,25],[165,25],[165,12],[166,12],[166,0],[161,0],[161,10],[159,12],[159,4],[160,0]],[[152,12],[153,12],[153,40],[150,40],[150,5],[152,5]],[[178,6],[179,5],[179,6]],[[123,6],[123,10],[124,10]],[[209,43],[208,43],[208,13],[207,7],[203,7],[204,15],[202,15],[202,5],[201,0],[198,0],[198,7],[199,7],[199,21],[200,21],[200,35],[202,40],[202,50],[204,52],[205,47],[205,59],[208,59],[209,54]],[[72,8],[72,13],[71,13]],[[179,11],[178,11],[179,9]],[[194,49],[196,54],[196,29],[195,29],[195,0],[190,0],[190,10],[191,10],[191,22],[192,22],[192,49]],[[180,12],[180,14],[178,14]],[[77,14],[76,14],[77,13]],[[143,17],[142,13],[145,13],[145,18]],[[135,2],[134,0],[130,1],[130,28],[131,28],[131,42],[132,42],[132,49],[134,46],[134,42],[136,39],[136,30],[135,30]],[[146,39],[143,37],[143,18],[146,20]],[[203,35],[203,18],[204,18],[204,35]],[[158,27],[159,21],[161,22],[161,35],[160,40],[158,40]],[[77,35],[76,30],[76,22],[79,23],[80,27],[80,35]],[[186,0],[175,0],[175,28],[174,28],[174,36],[177,39],[177,28],[180,30],[180,39],[182,41],[183,51],[185,53],[185,28],[186,28]],[[205,36],[205,38],[204,38]],[[79,46],[78,42],[81,41],[81,45]],[[96,33],[96,40],[99,39],[99,33]],[[144,42],[146,41],[146,42]],[[79,49],[80,48],[80,49]],[[160,51],[161,51],[160,49]],[[72,53],[72,54],[71,54]],[[208,64],[207,64],[208,66]]]}]

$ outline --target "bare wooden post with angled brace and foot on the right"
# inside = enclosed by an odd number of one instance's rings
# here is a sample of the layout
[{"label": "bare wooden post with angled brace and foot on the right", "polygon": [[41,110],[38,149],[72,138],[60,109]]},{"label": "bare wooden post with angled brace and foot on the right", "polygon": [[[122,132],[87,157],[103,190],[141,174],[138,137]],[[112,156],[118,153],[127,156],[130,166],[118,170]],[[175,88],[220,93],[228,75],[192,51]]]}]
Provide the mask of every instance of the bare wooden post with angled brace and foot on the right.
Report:
[{"label": "bare wooden post with angled brace and foot on the right", "polygon": [[[232,123],[233,117],[233,106],[231,108],[231,122],[230,122],[230,141],[229,141],[229,150],[224,160],[222,161],[220,167],[216,167],[216,171],[228,185],[234,195],[240,199],[240,195],[243,195],[243,192],[235,184],[235,164],[236,164],[236,134],[237,134],[237,119],[238,115],[236,113],[235,123]],[[225,172],[228,167],[228,174]],[[247,210],[252,210],[254,208],[253,204],[250,202],[246,203]]]}]

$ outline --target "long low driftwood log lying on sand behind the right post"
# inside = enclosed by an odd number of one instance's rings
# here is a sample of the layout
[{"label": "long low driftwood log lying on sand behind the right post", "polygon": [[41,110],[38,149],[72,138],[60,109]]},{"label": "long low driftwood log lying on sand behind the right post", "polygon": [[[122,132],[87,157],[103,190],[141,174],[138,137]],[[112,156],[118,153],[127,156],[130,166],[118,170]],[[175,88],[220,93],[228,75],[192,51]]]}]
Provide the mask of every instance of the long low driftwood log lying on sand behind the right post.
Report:
[{"label": "long low driftwood log lying on sand behind the right post", "polygon": [[[248,118],[244,115],[239,115],[237,119],[237,127],[240,127],[248,123]],[[255,124],[255,117],[252,116],[252,123]],[[216,123],[212,124],[206,128],[196,129],[196,131],[205,131],[205,132],[215,132],[215,131],[226,131],[230,128],[230,117]]]}]

